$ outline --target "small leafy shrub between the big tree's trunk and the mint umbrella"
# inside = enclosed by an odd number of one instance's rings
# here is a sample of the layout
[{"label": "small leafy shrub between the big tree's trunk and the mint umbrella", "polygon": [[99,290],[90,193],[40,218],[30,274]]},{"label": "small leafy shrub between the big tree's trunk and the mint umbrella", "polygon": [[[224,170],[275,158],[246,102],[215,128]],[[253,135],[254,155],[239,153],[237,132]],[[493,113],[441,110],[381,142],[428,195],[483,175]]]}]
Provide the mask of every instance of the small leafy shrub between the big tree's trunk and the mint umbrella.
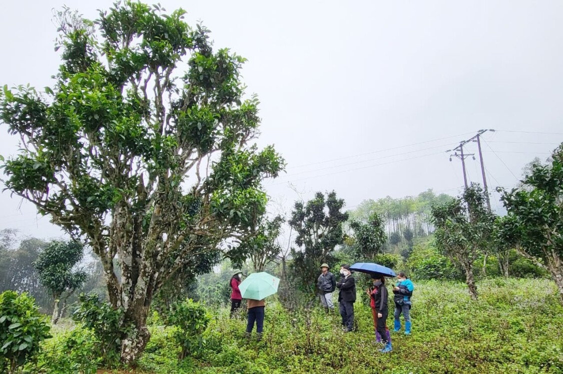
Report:
[{"label": "small leafy shrub between the big tree's trunk and the mint umbrella", "polygon": [[202,335],[211,319],[207,309],[203,305],[187,299],[173,305],[168,314],[169,325],[176,326],[174,339],[182,347],[180,359],[202,353]]}]

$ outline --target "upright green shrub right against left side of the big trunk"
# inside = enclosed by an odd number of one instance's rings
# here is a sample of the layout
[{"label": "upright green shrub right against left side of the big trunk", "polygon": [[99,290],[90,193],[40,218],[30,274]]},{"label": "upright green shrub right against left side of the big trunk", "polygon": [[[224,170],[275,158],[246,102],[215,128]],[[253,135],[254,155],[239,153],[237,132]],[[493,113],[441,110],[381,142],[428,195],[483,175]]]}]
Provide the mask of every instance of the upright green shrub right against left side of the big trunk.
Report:
[{"label": "upright green shrub right against left side of the big trunk", "polygon": [[99,342],[97,348],[106,366],[119,361],[121,337],[126,333],[121,327],[122,309],[114,309],[108,301],[96,294],[80,295],[80,307],[74,312],[74,321],[91,328]]}]

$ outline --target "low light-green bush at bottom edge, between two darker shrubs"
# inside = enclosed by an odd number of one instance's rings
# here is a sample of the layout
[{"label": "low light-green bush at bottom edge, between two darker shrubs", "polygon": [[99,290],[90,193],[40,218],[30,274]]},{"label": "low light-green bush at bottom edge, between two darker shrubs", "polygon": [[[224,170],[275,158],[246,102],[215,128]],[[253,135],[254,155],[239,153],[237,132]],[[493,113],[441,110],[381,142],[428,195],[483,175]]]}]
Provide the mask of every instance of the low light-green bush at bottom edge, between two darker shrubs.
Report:
[{"label": "low light-green bush at bottom edge, between two darker shrubs", "polygon": [[92,330],[75,327],[42,344],[37,364],[28,368],[39,374],[91,374],[101,363],[99,341]]}]

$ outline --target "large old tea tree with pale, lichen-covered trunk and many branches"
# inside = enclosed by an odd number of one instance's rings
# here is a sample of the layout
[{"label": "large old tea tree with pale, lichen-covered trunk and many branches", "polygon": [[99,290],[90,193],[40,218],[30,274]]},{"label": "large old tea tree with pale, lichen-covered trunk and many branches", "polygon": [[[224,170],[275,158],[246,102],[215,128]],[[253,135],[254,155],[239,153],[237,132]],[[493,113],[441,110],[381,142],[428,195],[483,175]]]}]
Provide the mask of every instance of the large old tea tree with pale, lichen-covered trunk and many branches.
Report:
[{"label": "large old tea tree with pale, lichen-covered trunk and many branches", "polygon": [[155,293],[194,256],[251,235],[261,181],[284,167],[273,147],[249,145],[260,120],[256,98],[243,99],[244,58],[165,12],[127,1],[96,21],[58,13],[56,83],[0,97],[21,137],[6,186],[100,256],[124,311],[124,363],[149,340]]}]

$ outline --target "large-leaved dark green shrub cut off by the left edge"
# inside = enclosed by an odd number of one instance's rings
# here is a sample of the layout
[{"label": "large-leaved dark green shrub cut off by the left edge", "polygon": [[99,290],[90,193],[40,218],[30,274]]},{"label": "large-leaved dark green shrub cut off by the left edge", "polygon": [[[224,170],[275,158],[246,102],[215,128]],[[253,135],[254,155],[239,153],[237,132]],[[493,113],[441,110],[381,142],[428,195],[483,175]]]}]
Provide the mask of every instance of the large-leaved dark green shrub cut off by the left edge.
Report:
[{"label": "large-leaved dark green shrub cut off by the left edge", "polygon": [[33,359],[43,339],[51,337],[46,317],[39,313],[35,299],[15,291],[0,294],[0,368],[14,373]]}]

